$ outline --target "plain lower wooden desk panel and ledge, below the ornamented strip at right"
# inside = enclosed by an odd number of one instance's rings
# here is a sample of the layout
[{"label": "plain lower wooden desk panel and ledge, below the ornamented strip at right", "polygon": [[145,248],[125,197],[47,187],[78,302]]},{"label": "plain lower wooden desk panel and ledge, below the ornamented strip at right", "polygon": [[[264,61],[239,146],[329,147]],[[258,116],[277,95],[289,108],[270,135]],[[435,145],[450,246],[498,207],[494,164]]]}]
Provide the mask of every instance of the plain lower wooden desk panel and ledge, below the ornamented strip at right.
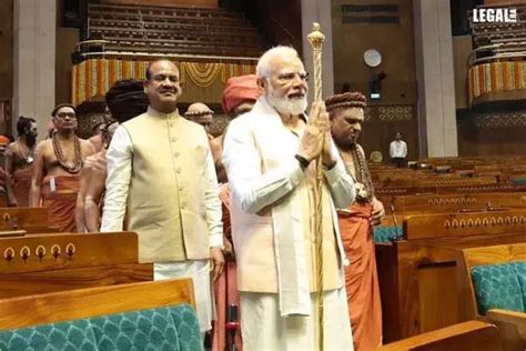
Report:
[{"label": "plain lower wooden desk panel and ledge, below the ornamented strip at right", "polygon": [[458,250],[525,241],[524,233],[498,233],[376,244],[384,341],[466,321],[456,278]]}]

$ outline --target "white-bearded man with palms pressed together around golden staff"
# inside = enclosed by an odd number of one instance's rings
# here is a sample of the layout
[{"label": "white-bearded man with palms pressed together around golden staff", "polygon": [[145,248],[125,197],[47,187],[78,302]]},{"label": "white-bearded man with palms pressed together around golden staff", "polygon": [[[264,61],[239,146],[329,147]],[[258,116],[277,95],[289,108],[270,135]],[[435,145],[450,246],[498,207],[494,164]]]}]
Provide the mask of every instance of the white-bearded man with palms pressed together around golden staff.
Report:
[{"label": "white-bearded man with palms pressed together around golden staff", "polygon": [[232,191],[232,237],[246,350],[314,350],[316,255],[314,179],[322,158],[324,347],[353,350],[346,311],[337,208],[354,184],[332,142],[323,102],[306,109],[307,73],[289,47],[266,51],[256,67],[262,92],[233,120],[223,162]]}]

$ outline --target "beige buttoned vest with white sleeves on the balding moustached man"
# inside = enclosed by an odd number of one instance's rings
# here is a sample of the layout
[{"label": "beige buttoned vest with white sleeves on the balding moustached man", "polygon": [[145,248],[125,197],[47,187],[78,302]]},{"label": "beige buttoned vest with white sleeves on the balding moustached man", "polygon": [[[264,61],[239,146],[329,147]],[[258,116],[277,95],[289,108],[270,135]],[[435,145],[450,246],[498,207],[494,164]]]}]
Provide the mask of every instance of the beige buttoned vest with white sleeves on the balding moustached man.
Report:
[{"label": "beige buttoned vest with white sleeves on the balding moustached man", "polygon": [[[210,247],[222,244],[222,224],[219,187],[204,129],[181,118],[178,111],[165,114],[151,108],[120,128],[120,134],[128,134],[131,141],[128,230],[139,234],[140,261],[208,259]],[[112,170],[125,172],[112,167],[118,164],[119,152],[124,151],[118,150],[113,141],[108,150],[101,231],[120,230],[115,218],[122,223],[120,212],[114,215],[111,208],[112,187],[122,187],[122,181],[111,179]]]}]

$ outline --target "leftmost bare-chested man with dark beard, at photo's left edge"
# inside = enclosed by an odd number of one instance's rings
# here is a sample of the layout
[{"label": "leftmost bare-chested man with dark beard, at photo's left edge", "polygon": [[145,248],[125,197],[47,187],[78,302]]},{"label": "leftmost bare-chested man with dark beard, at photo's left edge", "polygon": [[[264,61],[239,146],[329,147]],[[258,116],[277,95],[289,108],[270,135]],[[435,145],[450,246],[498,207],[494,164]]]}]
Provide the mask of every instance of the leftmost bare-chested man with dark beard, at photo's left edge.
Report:
[{"label": "leftmost bare-chested man with dark beard, at photo's left edge", "polygon": [[8,204],[28,207],[33,174],[37,121],[21,116],[17,122],[18,139],[6,149],[6,190]]}]

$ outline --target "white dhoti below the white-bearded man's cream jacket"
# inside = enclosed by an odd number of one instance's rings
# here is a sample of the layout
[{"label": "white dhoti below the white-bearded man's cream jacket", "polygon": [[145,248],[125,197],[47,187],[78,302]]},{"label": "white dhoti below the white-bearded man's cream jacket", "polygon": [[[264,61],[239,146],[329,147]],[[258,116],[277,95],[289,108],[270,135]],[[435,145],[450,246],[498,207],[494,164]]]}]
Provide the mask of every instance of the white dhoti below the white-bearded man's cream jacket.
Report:
[{"label": "white dhoti below the white-bearded man's cream jacket", "polygon": [[[326,291],[324,303],[324,350],[352,351],[353,337],[345,289]],[[277,294],[240,292],[243,349],[296,351],[317,349],[316,293],[311,293],[311,315],[282,318]]]}]

